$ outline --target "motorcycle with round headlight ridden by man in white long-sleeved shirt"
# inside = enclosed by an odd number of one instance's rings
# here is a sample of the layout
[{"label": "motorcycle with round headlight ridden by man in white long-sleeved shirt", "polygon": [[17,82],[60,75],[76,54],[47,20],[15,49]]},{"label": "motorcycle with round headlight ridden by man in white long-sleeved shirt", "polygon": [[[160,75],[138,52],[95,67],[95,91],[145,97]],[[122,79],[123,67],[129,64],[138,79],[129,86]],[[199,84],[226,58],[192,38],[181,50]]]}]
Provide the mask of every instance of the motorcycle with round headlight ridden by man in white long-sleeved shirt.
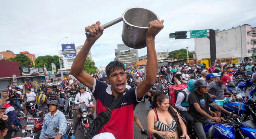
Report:
[{"label": "motorcycle with round headlight ridden by man in white long-sleeved shirt", "polygon": [[[93,100],[90,99],[89,103],[92,101]],[[74,110],[79,110],[79,112],[80,112],[79,123],[81,125],[81,128],[78,128],[78,130],[81,130],[83,132],[84,137],[87,135],[90,124],[92,123],[92,120],[94,119],[93,114],[91,113],[92,112],[91,108],[92,108],[92,106],[86,106],[86,104],[81,104],[79,106],[79,109],[74,109]],[[75,125],[75,126],[77,126],[77,125]]]}]

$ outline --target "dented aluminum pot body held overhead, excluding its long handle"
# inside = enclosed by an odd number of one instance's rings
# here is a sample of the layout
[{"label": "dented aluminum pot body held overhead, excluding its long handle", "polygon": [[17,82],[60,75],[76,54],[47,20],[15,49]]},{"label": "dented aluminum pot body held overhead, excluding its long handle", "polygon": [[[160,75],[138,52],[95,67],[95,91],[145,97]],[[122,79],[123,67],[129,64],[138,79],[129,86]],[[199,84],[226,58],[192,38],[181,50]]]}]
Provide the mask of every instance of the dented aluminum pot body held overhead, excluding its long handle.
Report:
[{"label": "dented aluminum pot body held overhead, excluding its long handle", "polygon": [[124,11],[122,18],[124,44],[134,49],[146,47],[146,31],[149,28],[149,22],[159,19],[158,15],[149,9],[131,7]]}]

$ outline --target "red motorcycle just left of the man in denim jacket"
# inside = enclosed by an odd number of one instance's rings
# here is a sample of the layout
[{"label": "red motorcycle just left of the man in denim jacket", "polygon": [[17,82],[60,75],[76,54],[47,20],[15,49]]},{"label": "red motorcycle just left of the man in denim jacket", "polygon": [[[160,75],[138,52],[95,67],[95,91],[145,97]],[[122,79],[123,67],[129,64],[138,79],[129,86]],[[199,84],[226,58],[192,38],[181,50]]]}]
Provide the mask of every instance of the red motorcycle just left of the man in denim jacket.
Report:
[{"label": "red motorcycle just left of the man in denim jacket", "polygon": [[[47,115],[47,113],[45,114]],[[28,133],[30,133],[31,138],[39,138],[41,134],[41,130],[43,127],[43,119],[44,116],[43,113],[39,113],[38,118],[37,117],[21,117],[23,119],[26,119],[26,127],[25,127],[25,134],[24,137],[27,136]]]}]

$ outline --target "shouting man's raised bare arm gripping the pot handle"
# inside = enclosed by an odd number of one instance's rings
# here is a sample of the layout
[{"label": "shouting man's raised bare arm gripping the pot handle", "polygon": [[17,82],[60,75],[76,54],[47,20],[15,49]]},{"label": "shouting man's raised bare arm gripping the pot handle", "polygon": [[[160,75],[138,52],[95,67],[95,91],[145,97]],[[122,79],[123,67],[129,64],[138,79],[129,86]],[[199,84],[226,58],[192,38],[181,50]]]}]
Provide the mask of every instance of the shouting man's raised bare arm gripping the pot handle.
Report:
[{"label": "shouting man's raised bare arm gripping the pot handle", "polygon": [[75,78],[79,80],[83,85],[92,89],[94,79],[93,77],[84,72],[83,66],[86,61],[86,57],[97,39],[103,34],[103,27],[101,27],[101,23],[99,21],[96,24],[92,24],[91,26],[85,27],[85,31],[89,31],[92,36],[87,36],[82,49],[75,57],[73,64],[71,66],[70,74],[72,74]]}]

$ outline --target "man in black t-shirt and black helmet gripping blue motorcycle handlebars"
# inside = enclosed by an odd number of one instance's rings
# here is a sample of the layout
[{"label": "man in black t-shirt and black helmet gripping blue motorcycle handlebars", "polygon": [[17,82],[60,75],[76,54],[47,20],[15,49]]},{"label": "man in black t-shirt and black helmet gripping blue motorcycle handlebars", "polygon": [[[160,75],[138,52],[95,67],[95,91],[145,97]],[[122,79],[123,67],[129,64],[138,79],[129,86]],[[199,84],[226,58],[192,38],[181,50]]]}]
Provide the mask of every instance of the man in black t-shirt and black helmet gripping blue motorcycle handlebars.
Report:
[{"label": "man in black t-shirt and black helmet gripping blue motorcycle handlebars", "polygon": [[209,85],[205,80],[196,80],[194,83],[196,91],[192,91],[188,95],[189,111],[191,116],[194,118],[194,129],[199,139],[206,138],[203,124],[213,123],[211,120],[215,120],[217,123],[224,120],[221,117],[213,117],[209,115],[209,103],[215,104],[215,106],[217,106],[222,112],[231,115],[231,112],[228,112],[213,102],[213,99],[211,99],[210,95],[207,93],[208,86]]}]

